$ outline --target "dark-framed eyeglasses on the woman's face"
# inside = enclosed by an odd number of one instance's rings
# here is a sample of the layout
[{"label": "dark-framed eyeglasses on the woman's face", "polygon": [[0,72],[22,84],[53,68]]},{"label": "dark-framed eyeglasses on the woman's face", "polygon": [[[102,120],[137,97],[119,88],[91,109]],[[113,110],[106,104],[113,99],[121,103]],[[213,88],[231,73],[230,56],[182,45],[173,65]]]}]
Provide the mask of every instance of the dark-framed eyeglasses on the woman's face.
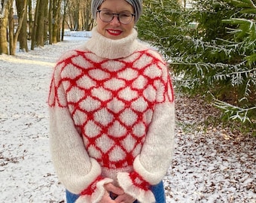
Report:
[{"label": "dark-framed eyeglasses on the woman's face", "polygon": [[105,11],[105,10],[97,10],[97,13],[99,13],[99,18],[102,20],[104,23],[109,23],[111,20],[114,19],[114,15],[117,16],[117,20],[119,20],[120,23],[126,25],[131,23],[133,20],[133,17],[135,14],[131,14],[130,12],[121,12],[120,14],[114,14],[110,11]]}]

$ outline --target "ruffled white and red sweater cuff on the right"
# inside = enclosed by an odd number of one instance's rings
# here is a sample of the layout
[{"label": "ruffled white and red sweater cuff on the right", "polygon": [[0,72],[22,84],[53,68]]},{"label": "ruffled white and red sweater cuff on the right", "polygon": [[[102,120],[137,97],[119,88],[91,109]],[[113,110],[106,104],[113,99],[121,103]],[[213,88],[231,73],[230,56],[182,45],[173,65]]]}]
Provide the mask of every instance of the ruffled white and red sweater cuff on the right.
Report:
[{"label": "ruffled white and red sweater cuff on the right", "polygon": [[129,173],[119,172],[117,180],[120,187],[128,195],[133,196],[141,203],[154,203],[153,192],[151,192],[150,184],[145,181],[136,171]]}]

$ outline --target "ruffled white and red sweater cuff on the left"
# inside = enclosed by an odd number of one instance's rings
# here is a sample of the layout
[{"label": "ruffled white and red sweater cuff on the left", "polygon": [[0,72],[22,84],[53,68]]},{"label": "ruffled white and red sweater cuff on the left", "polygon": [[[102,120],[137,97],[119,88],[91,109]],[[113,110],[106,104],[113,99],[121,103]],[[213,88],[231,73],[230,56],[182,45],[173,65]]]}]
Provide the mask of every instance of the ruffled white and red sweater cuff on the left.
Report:
[{"label": "ruffled white and red sweater cuff on the left", "polygon": [[104,193],[105,193],[105,187],[104,185],[107,183],[112,183],[113,180],[110,178],[104,178],[102,176],[99,176],[96,178],[96,180],[93,181],[93,183],[90,184],[86,189],[84,189],[81,193],[79,198],[75,201],[75,203],[97,203],[99,202]]}]

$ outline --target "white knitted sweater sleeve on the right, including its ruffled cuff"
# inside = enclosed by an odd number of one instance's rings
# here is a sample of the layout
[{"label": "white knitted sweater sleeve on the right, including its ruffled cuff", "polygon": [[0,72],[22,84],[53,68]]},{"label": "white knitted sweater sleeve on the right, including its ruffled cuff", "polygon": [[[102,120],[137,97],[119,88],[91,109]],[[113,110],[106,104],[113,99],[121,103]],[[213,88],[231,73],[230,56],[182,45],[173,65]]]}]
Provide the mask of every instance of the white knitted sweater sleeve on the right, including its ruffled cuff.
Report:
[{"label": "white knitted sweater sleeve on the right, including its ruffled cuff", "polygon": [[163,180],[174,149],[175,105],[172,83],[167,70],[163,70],[162,77],[145,143],[133,163],[134,171],[117,174],[118,182],[125,192],[142,203],[155,202],[150,186]]}]

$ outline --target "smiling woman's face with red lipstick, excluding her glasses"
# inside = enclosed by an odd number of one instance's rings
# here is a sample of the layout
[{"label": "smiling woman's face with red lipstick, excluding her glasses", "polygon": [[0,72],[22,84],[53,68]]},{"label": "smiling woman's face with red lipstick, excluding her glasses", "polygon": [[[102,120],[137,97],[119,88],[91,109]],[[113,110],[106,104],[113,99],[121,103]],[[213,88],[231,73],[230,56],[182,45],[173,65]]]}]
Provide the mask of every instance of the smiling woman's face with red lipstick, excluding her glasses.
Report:
[{"label": "smiling woman's face with red lipstick, excluding her glasses", "polygon": [[[120,14],[120,12],[134,14],[133,6],[125,0],[105,0],[102,2],[102,5],[100,5],[99,10],[108,11],[114,14]],[[99,13],[97,13],[96,21],[98,24],[97,29],[99,34],[113,40],[125,38],[126,36],[130,35],[135,24],[134,17],[130,23],[124,25],[119,22],[117,15],[114,15],[114,19],[110,22],[104,23],[99,18]]]}]

